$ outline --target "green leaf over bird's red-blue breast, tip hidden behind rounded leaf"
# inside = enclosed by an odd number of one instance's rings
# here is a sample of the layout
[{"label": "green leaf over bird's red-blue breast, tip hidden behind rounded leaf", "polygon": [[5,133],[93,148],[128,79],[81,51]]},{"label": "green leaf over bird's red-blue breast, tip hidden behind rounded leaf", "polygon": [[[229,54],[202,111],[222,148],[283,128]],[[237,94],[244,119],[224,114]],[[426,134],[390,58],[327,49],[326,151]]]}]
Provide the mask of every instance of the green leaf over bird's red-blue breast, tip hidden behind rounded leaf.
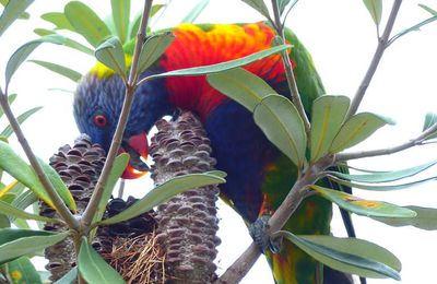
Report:
[{"label": "green leaf over bird's red-blue breast, tip hidden behind rounded leaf", "polygon": [[208,83],[253,113],[261,100],[276,92],[256,74],[235,68],[206,75]]}]

